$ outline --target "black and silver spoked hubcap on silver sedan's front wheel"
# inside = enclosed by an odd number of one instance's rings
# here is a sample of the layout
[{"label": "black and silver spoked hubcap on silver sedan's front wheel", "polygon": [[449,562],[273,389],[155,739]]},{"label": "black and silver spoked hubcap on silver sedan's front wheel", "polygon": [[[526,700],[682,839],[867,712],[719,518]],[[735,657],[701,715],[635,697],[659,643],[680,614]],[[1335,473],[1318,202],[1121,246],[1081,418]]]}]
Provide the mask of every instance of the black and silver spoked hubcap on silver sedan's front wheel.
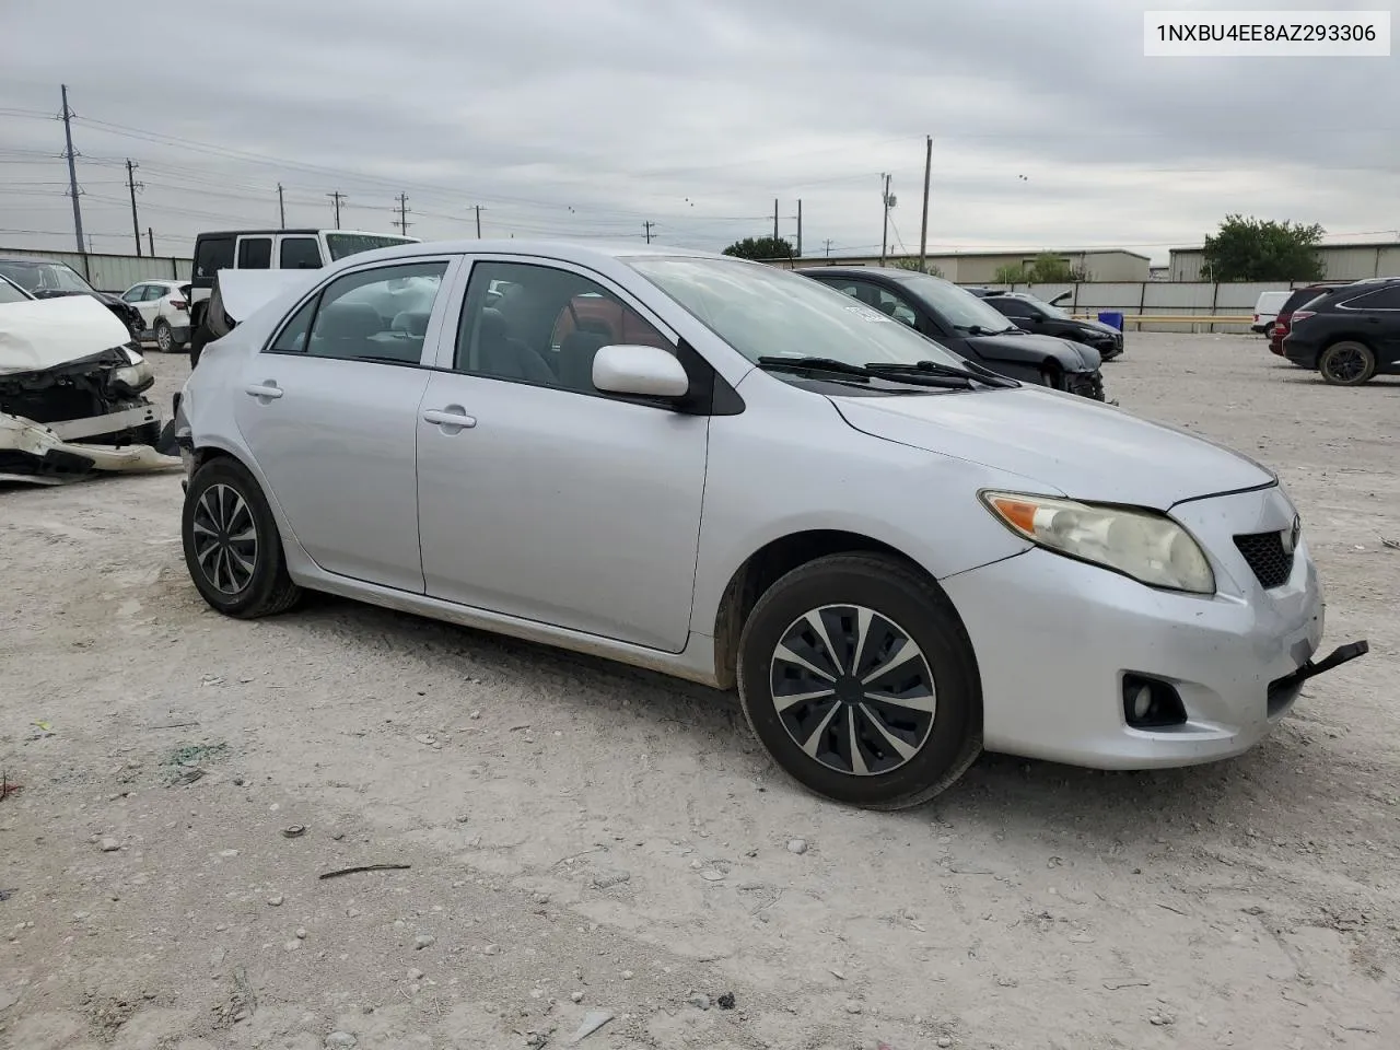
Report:
[{"label": "black and silver spoked hubcap on silver sedan's front wheel", "polygon": [[788,626],[770,661],[778,720],[808,757],[858,777],[890,773],[934,728],[937,693],[923,650],[860,605],[827,605]]}]

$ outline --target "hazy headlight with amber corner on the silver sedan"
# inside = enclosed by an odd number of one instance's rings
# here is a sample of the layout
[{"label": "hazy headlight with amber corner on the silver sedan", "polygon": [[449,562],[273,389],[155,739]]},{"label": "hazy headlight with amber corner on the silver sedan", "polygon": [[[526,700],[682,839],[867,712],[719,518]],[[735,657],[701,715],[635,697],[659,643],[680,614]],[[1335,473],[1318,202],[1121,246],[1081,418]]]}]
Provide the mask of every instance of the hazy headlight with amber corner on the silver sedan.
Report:
[{"label": "hazy headlight with amber corner on the silver sedan", "polygon": [[981,493],[998,521],[1032,543],[1149,587],[1215,594],[1215,574],[1191,535],[1170,518],[1049,496]]}]

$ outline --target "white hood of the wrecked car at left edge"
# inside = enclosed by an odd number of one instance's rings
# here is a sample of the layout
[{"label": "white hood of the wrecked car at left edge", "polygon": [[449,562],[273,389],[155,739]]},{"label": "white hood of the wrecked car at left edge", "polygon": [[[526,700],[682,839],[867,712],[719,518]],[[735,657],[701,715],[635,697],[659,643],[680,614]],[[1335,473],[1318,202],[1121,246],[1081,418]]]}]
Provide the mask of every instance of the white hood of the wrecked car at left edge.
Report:
[{"label": "white hood of the wrecked car at left edge", "polygon": [[132,333],[91,295],[0,305],[0,374],[36,372],[125,346]]}]

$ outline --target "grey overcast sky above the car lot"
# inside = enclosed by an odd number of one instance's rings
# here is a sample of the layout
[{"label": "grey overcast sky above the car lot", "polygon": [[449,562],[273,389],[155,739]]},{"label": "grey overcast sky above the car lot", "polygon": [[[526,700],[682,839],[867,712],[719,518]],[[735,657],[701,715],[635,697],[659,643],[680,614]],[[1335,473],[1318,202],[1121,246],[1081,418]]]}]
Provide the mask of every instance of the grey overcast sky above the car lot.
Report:
[{"label": "grey overcast sky above the car lot", "polygon": [[[1135,0],[111,0],[6,4],[0,246],[84,228],[188,255],[214,227],[654,238],[773,228],[808,255],[1123,245],[1165,260],[1231,211],[1400,227],[1400,59],[1147,59]],[[1270,8],[1333,8],[1336,0]],[[1351,6],[1351,4],[1347,4]],[[1364,0],[1392,10],[1396,0]],[[1400,20],[1396,20],[1400,21]],[[1358,237],[1366,234],[1366,237]]]}]

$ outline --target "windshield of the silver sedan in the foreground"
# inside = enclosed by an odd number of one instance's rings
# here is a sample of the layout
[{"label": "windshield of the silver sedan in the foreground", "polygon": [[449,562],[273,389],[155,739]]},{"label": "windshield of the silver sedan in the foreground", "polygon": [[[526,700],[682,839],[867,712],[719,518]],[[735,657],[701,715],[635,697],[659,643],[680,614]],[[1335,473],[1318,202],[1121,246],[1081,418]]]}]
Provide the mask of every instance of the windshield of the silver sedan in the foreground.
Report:
[{"label": "windshield of the silver sedan in the foreground", "polygon": [[738,259],[627,262],[755,364],[760,357],[829,357],[854,365],[965,367],[951,350],[811,277]]}]

